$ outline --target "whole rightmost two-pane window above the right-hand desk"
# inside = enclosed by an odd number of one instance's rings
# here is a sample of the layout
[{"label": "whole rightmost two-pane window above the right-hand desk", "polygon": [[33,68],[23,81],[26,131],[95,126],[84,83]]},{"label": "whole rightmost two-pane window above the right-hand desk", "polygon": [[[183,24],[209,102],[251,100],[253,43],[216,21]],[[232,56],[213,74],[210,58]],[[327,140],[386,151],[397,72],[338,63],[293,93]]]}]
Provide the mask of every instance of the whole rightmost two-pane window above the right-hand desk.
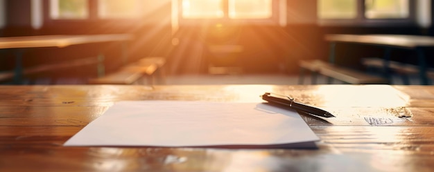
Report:
[{"label": "whole rightmost two-pane window above the right-hand desk", "polygon": [[408,25],[415,23],[410,0],[318,0],[320,24]]}]

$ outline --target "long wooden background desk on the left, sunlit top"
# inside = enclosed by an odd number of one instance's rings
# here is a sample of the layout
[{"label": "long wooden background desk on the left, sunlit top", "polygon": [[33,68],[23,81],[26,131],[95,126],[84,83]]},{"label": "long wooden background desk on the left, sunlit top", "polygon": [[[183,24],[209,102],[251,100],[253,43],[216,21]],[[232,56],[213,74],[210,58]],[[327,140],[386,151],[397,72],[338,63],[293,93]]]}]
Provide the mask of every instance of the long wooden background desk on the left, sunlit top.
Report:
[{"label": "long wooden background desk on the left, sunlit top", "polygon": [[[21,83],[23,75],[22,55],[26,48],[58,47],[63,48],[78,44],[91,44],[108,41],[128,41],[131,35],[42,35],[28,37],[0,37],[0,49],[15,49],[15,83]],[[125,48],[123,48],[125,49]],[[123,50],[125,51],[125,50]],[[126,52],[123,52],[126,58]]]}]

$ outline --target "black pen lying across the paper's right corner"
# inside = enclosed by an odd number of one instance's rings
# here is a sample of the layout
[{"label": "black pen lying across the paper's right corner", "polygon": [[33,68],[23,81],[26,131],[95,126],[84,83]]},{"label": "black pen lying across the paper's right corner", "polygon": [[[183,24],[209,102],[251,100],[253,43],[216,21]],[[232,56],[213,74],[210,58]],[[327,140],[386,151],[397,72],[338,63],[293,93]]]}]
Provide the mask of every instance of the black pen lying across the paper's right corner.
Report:
[{"label": "black pen lying across the paper's right corner", "polygon": [[335,116],[331,115],[331,113],[324,111],[320,108],[315,108],[313,106],[309,106],[306,104],[295,102],[293,98],[290,98],[288,96],[279,95],[279,97],[273,97],[271,95],[277,95],[277,94],[265,93],[261,97],[262,97],[262,99],[266,100],[270,104],[288,106],[288,107],[293,108],[297,111],[302,111],[304,113],[309,113],[311,115],[316,115],[319,117],[335,117]]}]

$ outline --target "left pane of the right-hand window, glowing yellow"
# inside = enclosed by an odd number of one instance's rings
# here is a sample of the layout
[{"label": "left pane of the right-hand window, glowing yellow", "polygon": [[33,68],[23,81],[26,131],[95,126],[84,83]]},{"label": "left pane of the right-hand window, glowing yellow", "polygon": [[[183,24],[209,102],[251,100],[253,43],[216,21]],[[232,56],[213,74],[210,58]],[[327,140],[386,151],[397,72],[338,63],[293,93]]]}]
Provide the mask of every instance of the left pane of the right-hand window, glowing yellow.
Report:
[{"label": "left pane of the right-hand window, glowing yellow", "polygon": [[357,0],[318,0],[318,18],[354,19],[357,17]]}]

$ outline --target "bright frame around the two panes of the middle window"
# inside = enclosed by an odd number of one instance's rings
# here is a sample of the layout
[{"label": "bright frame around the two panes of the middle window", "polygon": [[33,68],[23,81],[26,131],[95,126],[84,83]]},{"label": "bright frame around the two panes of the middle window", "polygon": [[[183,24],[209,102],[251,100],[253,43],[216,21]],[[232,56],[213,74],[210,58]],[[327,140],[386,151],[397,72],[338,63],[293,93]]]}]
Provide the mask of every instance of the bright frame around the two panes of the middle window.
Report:
[{"label": "bright frame around the two panes of the middle window", "polygon": [[179,24],[191,26],[191,25],[197,25],[201,23],[209,23],[209,24],[217,24],[217,23],[236,23],[236,24],[261,24],[261,25],[279,25],[279,15],[281,10],[279,8],[279,1],[280,0],[271,0],[272,3],[272,11],[271,11],[271,17],[264,18],[264,19],[231,19],[229,18],[229,1],[228,0],[222,0],[223,1],[223,18],[218,19],[200,19],[200,18],[183,18],[182,17],[182,0],[177,0],[177,19],[179,21]]}]

